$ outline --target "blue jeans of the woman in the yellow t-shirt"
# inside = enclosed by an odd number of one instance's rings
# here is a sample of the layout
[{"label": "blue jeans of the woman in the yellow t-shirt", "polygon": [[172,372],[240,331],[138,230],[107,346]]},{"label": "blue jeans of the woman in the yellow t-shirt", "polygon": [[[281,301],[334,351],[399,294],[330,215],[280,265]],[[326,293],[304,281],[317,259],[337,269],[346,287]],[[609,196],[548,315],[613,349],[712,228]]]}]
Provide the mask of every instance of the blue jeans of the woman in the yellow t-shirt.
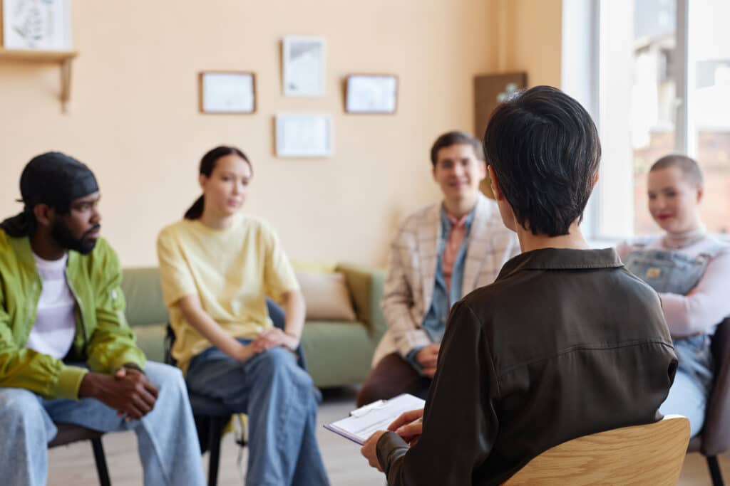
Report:
[{"label": "blue jeans of the woman in the yellow t-shirt", "polygon": [[316,391],[293,353],[272,348],[240,363],[208,348],[191,361],[187,380],[191,391],[248,415],[247,485],[329,484],[315,438]]}]

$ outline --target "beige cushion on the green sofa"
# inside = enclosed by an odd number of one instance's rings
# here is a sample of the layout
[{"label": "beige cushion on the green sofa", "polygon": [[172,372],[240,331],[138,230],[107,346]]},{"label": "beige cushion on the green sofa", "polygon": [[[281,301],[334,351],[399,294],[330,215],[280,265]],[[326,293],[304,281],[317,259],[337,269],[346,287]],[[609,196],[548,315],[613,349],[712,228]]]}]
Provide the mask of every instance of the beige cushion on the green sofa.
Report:
[{"label": "beige cushion on the green sofa", "polygon": [[356,320],[345,274],[304,272],[297,273],[296,278],[307,302],[307,321]]}]

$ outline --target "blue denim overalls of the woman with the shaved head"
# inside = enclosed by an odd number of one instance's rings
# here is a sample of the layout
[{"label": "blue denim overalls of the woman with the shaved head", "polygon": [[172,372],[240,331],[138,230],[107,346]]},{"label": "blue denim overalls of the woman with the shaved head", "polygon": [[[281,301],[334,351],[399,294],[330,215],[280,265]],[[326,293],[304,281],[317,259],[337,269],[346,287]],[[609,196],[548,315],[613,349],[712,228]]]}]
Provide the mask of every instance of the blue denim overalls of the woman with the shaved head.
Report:
[{"label": "blue denim overalls of the woman with the shaved head", "polygon": [[[623,263],[631,273],[657,292],[686,295],[702,278],[710,258],[707,254],[693,258],[676,251],[639,248],[626,256]],[[703,332],[675,337],[672,341],[679,366],[675,384],[660,407],[660,412],[687,416],[694,435],[702,428],[704,402],[712,387],[710,336]],[[677,390],[677,387],[684,389]]]}]

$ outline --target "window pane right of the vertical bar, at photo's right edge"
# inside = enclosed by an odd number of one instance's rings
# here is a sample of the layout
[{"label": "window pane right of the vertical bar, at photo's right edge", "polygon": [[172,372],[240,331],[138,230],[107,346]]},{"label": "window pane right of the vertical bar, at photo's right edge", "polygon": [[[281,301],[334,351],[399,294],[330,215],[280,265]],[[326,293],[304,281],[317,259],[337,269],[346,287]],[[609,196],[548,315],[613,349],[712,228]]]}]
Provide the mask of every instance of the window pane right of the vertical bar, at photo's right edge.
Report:
[{"label": "window pane right of the vertical bar, at photo's right edge", "polygon": [[702,219],[730,231],[730,18],[728,0],[689,2],[688,153],[704,172]]}]

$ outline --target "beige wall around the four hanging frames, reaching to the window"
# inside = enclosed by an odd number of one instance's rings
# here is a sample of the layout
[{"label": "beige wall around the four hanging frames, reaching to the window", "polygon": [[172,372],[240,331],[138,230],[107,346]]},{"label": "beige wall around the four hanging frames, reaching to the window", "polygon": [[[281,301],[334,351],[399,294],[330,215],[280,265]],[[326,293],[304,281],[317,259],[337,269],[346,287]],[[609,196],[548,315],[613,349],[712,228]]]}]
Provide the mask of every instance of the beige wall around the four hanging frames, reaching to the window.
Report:
[{"label": "beige wall around the four hanging frames, reaching to the window", "polygon": [[[532,84],[559,83],[559,6],[510,1],[517,27],[507,35],[508,67],[527,68]],[[0,214],[20,209],[18,177],[34,154],[68,152],[96,172],[103,232],[125,265],[155,264],[158,230],[198,195],[197,163],[217,144],[241,146],[253,160],[245,211],[268,219],[293,259],[383,263],[399,220],[439,195],[431,142],[471,127],[472,77],[497,69],[496,1],[74,0],[73,7],[80,56],[68,114],[57,101],[58,68],[0,63]],[[556,25],[557,59],[545,55]],[[324,98],[281,95],[279,42],[287,34],[326,38]],[[204,69],[255,71],[258,112],[198,114]],[[341,79],[357,72],[399,76],[396,116],[342,113]],[[277,111],[331,113],[334,156],[275,158]]]}]

